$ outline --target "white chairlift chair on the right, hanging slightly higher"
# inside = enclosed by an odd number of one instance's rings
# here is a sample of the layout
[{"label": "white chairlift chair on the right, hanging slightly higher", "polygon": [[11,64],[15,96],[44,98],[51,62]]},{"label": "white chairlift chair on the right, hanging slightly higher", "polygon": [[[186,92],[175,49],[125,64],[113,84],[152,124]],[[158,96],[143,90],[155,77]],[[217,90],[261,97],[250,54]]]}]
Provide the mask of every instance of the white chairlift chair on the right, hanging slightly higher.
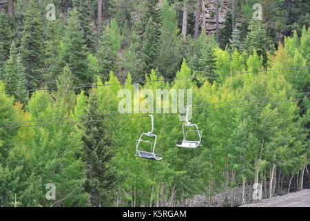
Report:
[{"label": "white chairlift chair on the right, hanging slightly higher", "polygon": [[[187,111],[186,111],[186,124],[183,124],[182,126],[182,130],[183,130],[183,140],[182,141],[178,141],[176,142],[176,146],[180,147],[180,148],[190,148],[190,149],[194,149],[197,148],[200,145],[201,142],[201,131],[199,131],[198,126],[196,124],[192,124],[191,122],[188,121],[188,113],[189,113],[189,108],[191,106],[187,106]],[[192,130],[188,130],[185,128],[193,128]],[[187,140],[187,135],[188,132],[194,132],[198,135],[198,139],[196,140]]]}]

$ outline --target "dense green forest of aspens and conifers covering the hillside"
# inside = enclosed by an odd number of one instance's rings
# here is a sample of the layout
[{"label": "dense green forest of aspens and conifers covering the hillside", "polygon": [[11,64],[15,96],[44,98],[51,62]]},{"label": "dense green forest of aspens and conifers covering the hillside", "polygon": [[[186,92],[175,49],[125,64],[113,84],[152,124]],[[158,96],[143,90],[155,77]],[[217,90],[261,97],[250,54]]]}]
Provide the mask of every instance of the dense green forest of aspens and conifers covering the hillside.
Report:
[{"label": "dense green forest of aspens and conifers covering the hillside", "polygon": [[[187,206],[203,194],[207,206],[238,206],[254,184],[262,198],[310,188],[309,1],[0,8],[0,207]],[[135,156],[151,121],[118,110],[120,90],[134,94],[137,82],[192,90],[200,147],[176,146],[179,113],[149,111],[163,160]],[[56,198],[47,197],[50,184]]]}]

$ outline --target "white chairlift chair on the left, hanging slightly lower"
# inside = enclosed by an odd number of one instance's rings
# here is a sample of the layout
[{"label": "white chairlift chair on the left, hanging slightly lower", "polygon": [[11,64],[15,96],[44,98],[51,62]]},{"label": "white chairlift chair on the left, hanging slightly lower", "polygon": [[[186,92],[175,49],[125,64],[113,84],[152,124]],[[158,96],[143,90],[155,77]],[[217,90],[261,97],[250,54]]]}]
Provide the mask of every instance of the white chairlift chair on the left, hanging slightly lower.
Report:
[{"label": "white chairlift chair on the left, hanging slightly lower", "polygon": [[[136,140],[136,156],[142,157],[142,158],[147,159],[147,160],[156,160],[156,161],[162,160],[163,155],[155,153],[157,136],[153,134],[153,131],[154,131],[154,115],[149,115],[149,117],[151,117],[151,119],[152,119],[152,131],[148,132],[148,133],[141,134],[139,140]],[[152,145],[152,142],[150,142],[149,140],[142,140],[143,137],[154,137],[155,138],[154,145]],[[149,144],[151,151],[150,152],[141,151],[139,149],[141,142],[145,142],[145,143]]]}]

